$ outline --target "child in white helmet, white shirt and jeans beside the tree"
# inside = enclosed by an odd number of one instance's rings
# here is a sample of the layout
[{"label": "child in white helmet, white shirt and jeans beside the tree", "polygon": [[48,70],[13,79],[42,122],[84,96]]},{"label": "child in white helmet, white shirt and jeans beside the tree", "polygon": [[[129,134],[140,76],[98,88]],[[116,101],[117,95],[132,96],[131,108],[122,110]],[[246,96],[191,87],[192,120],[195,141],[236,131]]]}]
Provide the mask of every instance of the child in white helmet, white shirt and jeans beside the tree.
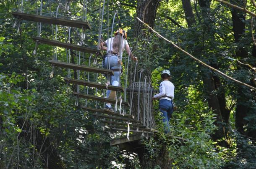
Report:
[{"label": "child in white helmet, white shirt and jeans beside the tree", "polygon": [[173,112],[172,99],[174,98],[174,85],[170,82],[171,73],[168,70],[162,71],[162,82],[160,83],[160,93],[153,96],[152,100],[159,99],[159,109],[162,113],[165,133],[170,133],[169,121]]}]

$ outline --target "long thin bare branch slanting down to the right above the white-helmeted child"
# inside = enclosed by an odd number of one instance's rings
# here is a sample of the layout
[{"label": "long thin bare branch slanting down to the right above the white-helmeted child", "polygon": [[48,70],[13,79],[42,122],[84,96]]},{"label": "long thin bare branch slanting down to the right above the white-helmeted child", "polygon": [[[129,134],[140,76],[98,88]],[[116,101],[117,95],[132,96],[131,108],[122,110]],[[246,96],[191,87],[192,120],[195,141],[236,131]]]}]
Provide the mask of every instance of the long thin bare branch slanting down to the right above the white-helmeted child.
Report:
[{"label": "long thin bare branch slanting down to the right above the white-helmeted child", "polygon": [[230,79],[231,81],[235,81],[236,83],[239,83],[240,85],[247,86],[247,87],[249,87],[249,88],[251,88],[251,89],[256,90],[255,87],[253,87],[253,86],[251,86],[251,85],[248,85],[248,84],[246,84],[246,83],[243,83],[243,82],[241,82],[241,81],[238,81],[237,79],[234,79],[234,78],[232,78],[232,77],[226,75],[225,73],[223,73],[223,72],[221,72],[221,71],[219,71],[219,70],[213,68],[212,66],[207,65],[207,64],[204,63],[203,61],[199,60],[198,58],[194,57],[193,55],[191,55],[191,54],[188,53],[187,51],[185,51],[185,50],[183,50],[182,48],[180,48],[178,45],[176,45],[175,43],[173,43],[171,40],[168,40],[168,39],[166,39],[165,37],[163,37],[162,35],[160,35],[157,31],[155,31],[153,28],[151,28],[148,24],[144,23],[144,22],[143,22],[142,20],[140,20],[138,17],[136,17],[136,18],[137,18],[141,23],[143,23],[144,25],[146,25],[149,29],[151,29],[154,33],[156,33],[159,37],[161,37],[161,38],[164,39],[165,41],[171,43],[175,48],[177,48],[178,50],[182,51],[183,53],[185,53],[186,55],[188,55],[189,57],[191,57],[193,60],[195,60],[195,61],[201,63],[201,65],[210,68],[212,71],[215,71],[215,72],[221,74],[222,76],[224,76],[224,77]]}]

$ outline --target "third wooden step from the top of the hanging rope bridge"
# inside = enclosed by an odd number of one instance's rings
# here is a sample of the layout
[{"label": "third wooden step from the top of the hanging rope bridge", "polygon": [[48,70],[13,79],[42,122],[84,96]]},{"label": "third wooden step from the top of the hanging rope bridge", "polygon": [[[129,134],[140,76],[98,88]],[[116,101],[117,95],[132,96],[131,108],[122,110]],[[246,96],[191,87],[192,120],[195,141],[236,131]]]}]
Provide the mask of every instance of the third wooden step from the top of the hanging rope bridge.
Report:
[{"label": "third wooden step from the top of the hanging rope bridge", "polygon": [[70,69],[79,70],[79,71],[87,71],[87,72],[102,73],[102,74],[109,73],[110,75],[114,75],[114,72],[110,69],[95,68],[91,66],[77,65],[73,63],[59,62],[59,61],[53,61],[53,60],[50,60],[49,63],[52,63],[54,66],[58,66],[62,68],[70,68]]}]

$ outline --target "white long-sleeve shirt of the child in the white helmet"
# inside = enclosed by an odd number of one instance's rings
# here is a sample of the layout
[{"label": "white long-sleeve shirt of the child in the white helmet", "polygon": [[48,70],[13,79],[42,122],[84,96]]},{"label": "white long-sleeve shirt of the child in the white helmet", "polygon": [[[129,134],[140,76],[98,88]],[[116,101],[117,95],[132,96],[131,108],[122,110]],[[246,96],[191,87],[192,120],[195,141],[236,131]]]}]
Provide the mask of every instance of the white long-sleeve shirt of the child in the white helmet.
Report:
[{"label": "white long-sleeve shirt of the child in the white helmet", "polygon": [[[160,98],[160,100],[162,99],[171,100],[168,97],[172,97],[172,99],[174,98],[174,85],[170,81],[162,81],[159,86],[159,91],[160,93],[156,94],[154,98]],[[163,97],[163,96],[168,96],[168,97]]]}]

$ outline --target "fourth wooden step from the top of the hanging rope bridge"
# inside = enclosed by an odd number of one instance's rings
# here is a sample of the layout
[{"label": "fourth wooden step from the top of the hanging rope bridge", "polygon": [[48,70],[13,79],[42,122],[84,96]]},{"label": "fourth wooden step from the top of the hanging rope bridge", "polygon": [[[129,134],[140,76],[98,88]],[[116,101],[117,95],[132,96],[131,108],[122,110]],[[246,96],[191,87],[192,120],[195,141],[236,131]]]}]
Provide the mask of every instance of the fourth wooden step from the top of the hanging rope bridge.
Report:
[{"label": "fourth wooden step from the top of the hanging rope bridge", "polygon": [[122,91],[124,92],[123,87],[118,87],[118,86],[111,86],[108,85],[106,88],[106,85],[100,84],[100,83],[94,83],[94,82],[89,82],[89,81],[81,81],[81,80],[76,80],[72,78],[64,78],[64,81],[72,84],[77,84],[77,85],[83,85],[83,86],[89,86],[93,88],[100,88],[100,89],[109,89],[111,91]]}]

